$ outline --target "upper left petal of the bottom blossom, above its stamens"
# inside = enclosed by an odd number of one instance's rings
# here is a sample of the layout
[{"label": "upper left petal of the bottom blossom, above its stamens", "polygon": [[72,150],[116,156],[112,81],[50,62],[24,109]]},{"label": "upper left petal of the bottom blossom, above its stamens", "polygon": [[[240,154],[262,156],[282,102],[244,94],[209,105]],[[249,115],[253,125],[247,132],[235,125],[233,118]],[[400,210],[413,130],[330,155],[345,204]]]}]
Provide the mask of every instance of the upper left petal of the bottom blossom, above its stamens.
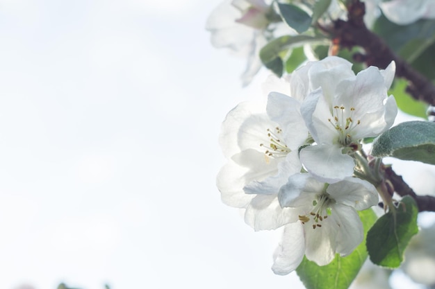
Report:
[{"label": "upper left petal of the bottom blossom, above its stamens", "polygon": [[307,173],[298,173],[288,178],[279,189],[281,207],[313,207],[315,195],[322,192],[324,184]]}]

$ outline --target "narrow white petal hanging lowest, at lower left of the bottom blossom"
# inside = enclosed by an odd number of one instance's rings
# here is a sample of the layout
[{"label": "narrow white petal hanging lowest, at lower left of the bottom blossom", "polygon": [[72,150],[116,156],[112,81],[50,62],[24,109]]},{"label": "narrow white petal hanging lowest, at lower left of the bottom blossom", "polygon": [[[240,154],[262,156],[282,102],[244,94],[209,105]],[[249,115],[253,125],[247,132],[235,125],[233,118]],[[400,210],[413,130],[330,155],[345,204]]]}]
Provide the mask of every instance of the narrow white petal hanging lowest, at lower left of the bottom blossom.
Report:
[{"label": "narrow white petal hanging lowest, at lower left of the bottom blossom", "polygon": [[304,259],[304,230],[299,222],[284,227],[281,244],[275,250],[272,270],[275,274],[286,275],[299,266]]}]

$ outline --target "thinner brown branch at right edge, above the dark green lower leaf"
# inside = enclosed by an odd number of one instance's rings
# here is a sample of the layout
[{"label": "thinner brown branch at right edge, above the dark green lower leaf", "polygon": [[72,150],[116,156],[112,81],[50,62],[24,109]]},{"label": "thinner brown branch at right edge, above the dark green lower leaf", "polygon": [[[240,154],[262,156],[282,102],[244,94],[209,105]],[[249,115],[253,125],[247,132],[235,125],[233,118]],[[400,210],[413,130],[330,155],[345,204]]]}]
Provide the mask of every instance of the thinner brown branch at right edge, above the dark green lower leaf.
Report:
[{"label": "thinner brown branch at right edge, above the dark green lower leaf", "polygon": [[409,195],[416,200],[418,211],[435,211],[435,197],[432,195],[417,195],[416,192],[404,182],[402,176],[394,172],[391,166],[385,168],[385,175],[391,184],[393,184],[397,194],[402,197]]}]

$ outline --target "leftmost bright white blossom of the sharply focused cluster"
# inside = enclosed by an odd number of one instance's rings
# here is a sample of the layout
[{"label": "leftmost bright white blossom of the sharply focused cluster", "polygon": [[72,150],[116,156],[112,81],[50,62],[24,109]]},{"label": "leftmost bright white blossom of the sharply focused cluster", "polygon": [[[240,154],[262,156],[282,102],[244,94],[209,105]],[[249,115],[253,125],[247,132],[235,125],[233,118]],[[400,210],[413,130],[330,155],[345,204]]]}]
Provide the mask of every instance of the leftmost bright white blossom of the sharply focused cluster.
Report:
[{"label": "leftmost bright white blossom of the sharply focused cluster", "polygon": [[[278,90],[290,91],[286,83]],[[266,107],[240,103],[222,123],[220,145],[229,161],[217,175],[217,187],[225,204],[246,209],[245,221],[256,230],[297,220],[279,206],[277,195],[301,170],[297,149],[308,130],[299,106],[299,100],[272,92]]]}]

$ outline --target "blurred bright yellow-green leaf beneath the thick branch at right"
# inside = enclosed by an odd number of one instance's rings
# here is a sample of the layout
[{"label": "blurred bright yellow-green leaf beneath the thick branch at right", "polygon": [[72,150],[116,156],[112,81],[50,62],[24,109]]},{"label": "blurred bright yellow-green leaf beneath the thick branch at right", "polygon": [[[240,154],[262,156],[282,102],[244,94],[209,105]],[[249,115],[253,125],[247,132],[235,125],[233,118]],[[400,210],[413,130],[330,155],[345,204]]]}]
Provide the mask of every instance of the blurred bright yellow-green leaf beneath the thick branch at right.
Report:
[{"label": "blurred bright yellow-green leaf beneath the thick branch at right", "polygon": [[426,112],[428,105],[407,94],[406,89],[407,80],[397,79],[394,82],[393,88],[390,89],[388,93],[393,94],[397,107],[399,107],[402,112],[427,119]]}]

